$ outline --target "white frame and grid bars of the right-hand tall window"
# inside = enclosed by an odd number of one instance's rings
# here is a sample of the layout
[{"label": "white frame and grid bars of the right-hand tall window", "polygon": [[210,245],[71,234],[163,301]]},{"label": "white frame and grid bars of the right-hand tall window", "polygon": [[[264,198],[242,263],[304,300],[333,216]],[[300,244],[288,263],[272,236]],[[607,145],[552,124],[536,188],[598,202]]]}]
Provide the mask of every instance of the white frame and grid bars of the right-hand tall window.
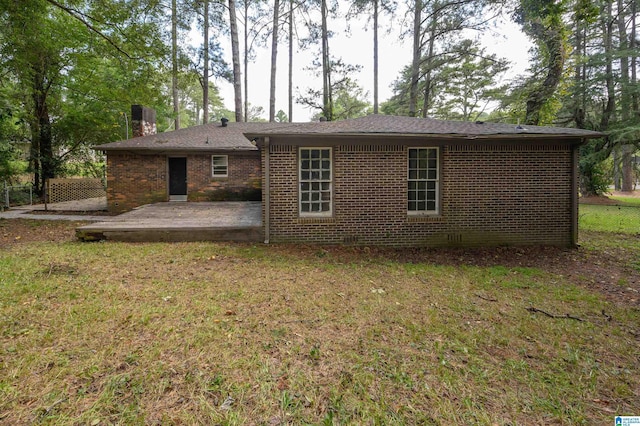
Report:
[{"label": "white frame and grid bars of the right-hand tall window", "polygon": [[[435,160],[436,160],[435,170],[433,170],[433,167],[431,167],[428,163],[426,168],[424,167],[421,168],[419,164],[415,169],[412,168],[411,167],[411,151],[412,150],[415,150],[418,152],[420,150],[433,151],[435,153]],[[432,157],[428,155],[426,161],[428,162],[429,160],[431,160],[431,158]],[[419,158],[418,158],[418,161],[420,161]],[[412,173],[412,171],[414,173]],[[435,171],[435,176],[433,176],[433,173],[432,173],[434,171]],[[421,172],[424,173],[422,177],[420,176]],[[422,186],[423,188],[411,189],[412,182],[416,182],[416,185]],[[420,185],[420,183],[422,183],[423,185]],[[410,195],[412,191],[416,192],[416,197],[414,200],[411,199],[411,195]],[[421,195],[420,193],[424,194],[424,200],[420,199],[419,197],[419,195]],[[429,197],[429,193],[433,193],[433,199]],[[418,208],[418,206],[416,206],[415,209],[410,208],[411,202],[419,203],[423,201],[425,203],[425,207],[423,209]],[[430,202],[434,203],[433,209],[427,208]],[[438,147],[432,147],[432,146],[410,147],[407,150],[407,214],[410,216],[433,216],[433,215],[440,214],[440,148]]]}]

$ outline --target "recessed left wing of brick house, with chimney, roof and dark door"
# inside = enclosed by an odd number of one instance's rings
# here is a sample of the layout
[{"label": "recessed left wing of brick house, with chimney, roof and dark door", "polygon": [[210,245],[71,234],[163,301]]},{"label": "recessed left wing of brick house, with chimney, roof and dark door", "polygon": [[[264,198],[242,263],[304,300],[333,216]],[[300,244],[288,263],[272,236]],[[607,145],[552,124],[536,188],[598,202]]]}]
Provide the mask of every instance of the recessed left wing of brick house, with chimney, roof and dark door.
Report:
[{"label": "recessed left wing of brick house, with chimney, roof and dark door", "polygon": [[278,123],[209,123],[155,133],[155,113],[132,107],[134,137],[107,154],[107,205],[125,212],[161,201],[259,200],[260,152],[243,133]]}]

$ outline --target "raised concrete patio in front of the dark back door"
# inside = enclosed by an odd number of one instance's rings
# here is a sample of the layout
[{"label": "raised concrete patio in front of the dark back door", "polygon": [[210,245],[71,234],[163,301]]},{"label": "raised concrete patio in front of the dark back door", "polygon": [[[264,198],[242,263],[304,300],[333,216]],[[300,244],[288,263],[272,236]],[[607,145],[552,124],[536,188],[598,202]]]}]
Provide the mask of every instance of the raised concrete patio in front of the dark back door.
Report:
[{"label": "raised concrete patio in front of the dark back door", "polygon": [[148,204],[76,229],[82,241],[261,241],[260,202]]}]

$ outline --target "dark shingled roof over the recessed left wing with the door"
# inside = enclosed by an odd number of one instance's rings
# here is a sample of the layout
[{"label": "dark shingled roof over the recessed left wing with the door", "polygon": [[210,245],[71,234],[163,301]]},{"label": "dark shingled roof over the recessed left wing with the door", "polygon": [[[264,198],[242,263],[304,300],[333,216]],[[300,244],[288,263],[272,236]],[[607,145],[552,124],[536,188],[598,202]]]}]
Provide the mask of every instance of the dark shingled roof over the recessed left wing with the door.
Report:
[{"label": "dark shingled roof over the recessed left wing with the door", "polygon": [[99,151],[251,151],[257,148],[244,136],[291,123],[209,123],[173,132],[158,133],[94,146]]}]

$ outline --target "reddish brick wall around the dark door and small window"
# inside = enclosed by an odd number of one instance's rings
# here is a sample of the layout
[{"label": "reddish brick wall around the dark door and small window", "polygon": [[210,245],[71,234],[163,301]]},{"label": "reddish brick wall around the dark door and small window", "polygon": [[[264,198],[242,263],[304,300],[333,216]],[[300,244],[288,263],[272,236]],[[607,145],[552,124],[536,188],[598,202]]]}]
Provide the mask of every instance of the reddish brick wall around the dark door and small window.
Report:
[{"label": "reddish brick wall around the dark door and small window", "polygon": [[[179,155],[176,155],[178,157]],[[257,151],[231,153],[228,177],[211,176],[211,154],[189,154],[187,192],[189,201],[208,201],[221,190],[260,188],[260,156]],[[169,200],[166,155],[107,155],[107,204],[111,212]]]}]

